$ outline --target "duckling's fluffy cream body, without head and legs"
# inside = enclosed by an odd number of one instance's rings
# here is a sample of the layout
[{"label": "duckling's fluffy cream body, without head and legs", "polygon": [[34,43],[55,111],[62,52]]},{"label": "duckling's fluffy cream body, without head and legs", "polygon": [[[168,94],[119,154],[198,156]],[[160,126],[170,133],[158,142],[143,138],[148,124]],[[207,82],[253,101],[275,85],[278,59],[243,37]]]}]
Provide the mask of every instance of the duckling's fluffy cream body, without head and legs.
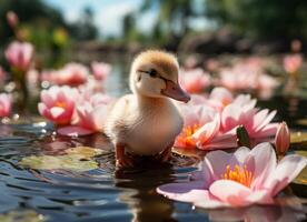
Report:
[{"label": "duckling's fluffy cream body, without head and legs", "polygon": [[113,144],[138,155],[154,155],[172,144],[182,128],[182,118],[172,101],[165,98],[125,95],[108,118],[107,134]]}]

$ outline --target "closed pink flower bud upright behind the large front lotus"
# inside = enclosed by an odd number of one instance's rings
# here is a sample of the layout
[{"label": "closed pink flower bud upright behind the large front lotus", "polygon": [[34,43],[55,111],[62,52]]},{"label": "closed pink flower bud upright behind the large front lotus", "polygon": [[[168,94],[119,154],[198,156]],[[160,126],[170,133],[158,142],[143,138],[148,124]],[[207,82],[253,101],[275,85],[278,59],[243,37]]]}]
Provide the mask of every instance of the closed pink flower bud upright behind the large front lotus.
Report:
[{"label": "closed pink flower bud upright behind the large front lotus", "polygon": [[275,149],[278,155],[284,155],[290,147],[290,132],[286,122],[281,122],[275,135]]}]

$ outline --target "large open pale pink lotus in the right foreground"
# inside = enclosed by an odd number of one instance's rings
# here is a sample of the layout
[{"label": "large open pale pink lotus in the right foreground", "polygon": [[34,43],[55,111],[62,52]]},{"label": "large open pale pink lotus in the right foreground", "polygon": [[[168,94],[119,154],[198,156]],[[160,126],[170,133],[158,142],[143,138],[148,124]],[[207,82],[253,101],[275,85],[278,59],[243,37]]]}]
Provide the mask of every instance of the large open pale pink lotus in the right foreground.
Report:
[{"label": "large open pale pink lotus in the right foreground", "polygon": [[157,192],[205,209],[273,204],[306,164],[306,158],[297,154],[277,163],[269,143],[252,150],[241,147],[232,154],[212,151],[205,157],[202,169],[192,175],[192,181],[165,184]]}]

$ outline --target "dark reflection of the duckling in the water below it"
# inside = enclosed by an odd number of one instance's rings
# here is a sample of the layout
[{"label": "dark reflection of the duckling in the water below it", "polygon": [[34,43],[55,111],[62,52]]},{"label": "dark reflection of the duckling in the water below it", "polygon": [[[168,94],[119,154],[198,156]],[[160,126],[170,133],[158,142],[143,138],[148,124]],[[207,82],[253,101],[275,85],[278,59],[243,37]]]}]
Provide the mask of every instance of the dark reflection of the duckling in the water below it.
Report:
[{"label": "dark reflection of the duckling in the water below it", "polygon": [[[171,201],[156,194],[156,186],[171,182],[168,178],[174,170],[170,165],[159,169],[142,169],[141,172],[117,171],[115,185],[123,189],[119,200],[131,209],[133,222],[140,221],[174,221]],[[161,180],[157,180],[157,178]]]}]

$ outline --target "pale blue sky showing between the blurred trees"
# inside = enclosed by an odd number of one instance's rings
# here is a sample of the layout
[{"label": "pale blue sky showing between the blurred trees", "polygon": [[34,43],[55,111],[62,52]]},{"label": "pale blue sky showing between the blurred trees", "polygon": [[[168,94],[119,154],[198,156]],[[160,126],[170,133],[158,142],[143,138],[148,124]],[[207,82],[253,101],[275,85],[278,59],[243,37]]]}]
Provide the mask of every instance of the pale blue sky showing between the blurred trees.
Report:
[{"label": "pale blue sky showing between the blurred trees", "polygon": [[[142,0],[43,0],[59,9],[68,22],[78,20],[85,7],[95,13],[95,23],[101,36],[119,36],[121,19],[141,6]],[[155,23],[156,12],[149,11],[138,20],[139,29],[148,32]]]}]

